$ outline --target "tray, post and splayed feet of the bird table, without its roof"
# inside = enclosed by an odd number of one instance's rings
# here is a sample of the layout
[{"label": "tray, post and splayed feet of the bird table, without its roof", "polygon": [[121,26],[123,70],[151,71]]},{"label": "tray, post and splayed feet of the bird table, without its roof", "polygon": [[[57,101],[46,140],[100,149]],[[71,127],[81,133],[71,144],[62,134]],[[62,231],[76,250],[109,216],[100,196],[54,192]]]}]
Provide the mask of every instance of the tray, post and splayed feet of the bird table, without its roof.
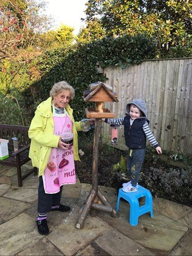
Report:
[{"label": "tray, post and splayed feet of the bird table, without its roof", "polygon": [[[103,196],[98,189],[98,142],[101,128],[101,118],[114,117],[108,109],[103,109],[103,102],[96,102],[95,109],[85,109],[87,118],[95,118],[95,133],[93,146],[93,163],[92,163],[92,189],[90,190],[85,204],[82,208],[81,215],[76,223],[76,228],[81,229],[84,226],[85,218],[91,209],[91,216],[96,216],[97,211],[111,213],[111,216],[117,217],[115,209],[112,208],[107,198]],[[102,203],[102,204],[101,204]]]}]

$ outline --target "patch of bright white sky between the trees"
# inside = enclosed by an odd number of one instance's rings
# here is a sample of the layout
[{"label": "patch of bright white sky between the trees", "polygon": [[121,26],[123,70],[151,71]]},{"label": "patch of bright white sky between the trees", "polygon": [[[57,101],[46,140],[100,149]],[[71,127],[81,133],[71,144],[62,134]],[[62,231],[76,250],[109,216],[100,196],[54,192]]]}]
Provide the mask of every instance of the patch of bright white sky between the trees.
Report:
[{"label": "patch of bright white sky between the trees", "polygon": [[55,19],[56,27],[61,23],[74,27],[74,34],[84,25],[81,21],[85,17],[85,3],[87,0],[46,0],[46,14]]}]

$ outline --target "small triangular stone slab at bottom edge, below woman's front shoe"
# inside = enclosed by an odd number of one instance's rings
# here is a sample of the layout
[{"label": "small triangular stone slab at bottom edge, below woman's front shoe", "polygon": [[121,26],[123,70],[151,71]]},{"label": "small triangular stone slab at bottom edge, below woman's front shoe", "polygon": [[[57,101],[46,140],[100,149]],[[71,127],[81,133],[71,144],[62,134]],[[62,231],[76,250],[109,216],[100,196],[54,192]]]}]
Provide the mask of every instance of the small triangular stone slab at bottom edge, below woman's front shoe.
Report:
[{"label": "small triangular stone slab at bottom edge, below woman's front shoe", "polygon": [[16,254],[16,256],[26,256],[26,255],[63,255],[61,252],[59,252],[56,247],[51,244],[50,241],[48,241],[45,237],[40,240],[37,244],[32,245],[28,247],[25,250],[22,250],[22,252],[19,252],[19,254]]}]

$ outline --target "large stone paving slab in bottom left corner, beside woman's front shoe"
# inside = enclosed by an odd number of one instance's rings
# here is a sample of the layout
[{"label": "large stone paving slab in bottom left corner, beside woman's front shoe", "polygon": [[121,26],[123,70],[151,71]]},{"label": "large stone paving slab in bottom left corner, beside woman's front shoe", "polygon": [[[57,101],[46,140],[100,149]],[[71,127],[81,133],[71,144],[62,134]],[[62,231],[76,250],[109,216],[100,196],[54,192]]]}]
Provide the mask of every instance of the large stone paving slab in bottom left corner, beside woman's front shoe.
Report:
[{"label": "large stone paving slab in bottom left corner, beside woman's front shoe", "polygon": [[32,217],[19,214],[0,225],[0,255],[15,255],[42,239]]}]

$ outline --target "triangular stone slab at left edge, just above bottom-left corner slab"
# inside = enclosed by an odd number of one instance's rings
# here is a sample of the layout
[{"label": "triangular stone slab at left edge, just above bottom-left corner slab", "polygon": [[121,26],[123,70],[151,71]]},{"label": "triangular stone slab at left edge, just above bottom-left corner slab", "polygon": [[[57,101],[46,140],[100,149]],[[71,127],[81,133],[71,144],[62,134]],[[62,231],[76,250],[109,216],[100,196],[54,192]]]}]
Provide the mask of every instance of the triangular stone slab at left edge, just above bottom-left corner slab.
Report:
[{"label": "triangular stone slab at left edge, just above bottom-left corner slab", "polygon": [[0,208],[0,216],[1,216],[0,224],[1,224],[19,215],[25,209],[29,208],[32,204],[17,201],[10,198],[1,197],[0,205],[1,205],[1,208]]}]

